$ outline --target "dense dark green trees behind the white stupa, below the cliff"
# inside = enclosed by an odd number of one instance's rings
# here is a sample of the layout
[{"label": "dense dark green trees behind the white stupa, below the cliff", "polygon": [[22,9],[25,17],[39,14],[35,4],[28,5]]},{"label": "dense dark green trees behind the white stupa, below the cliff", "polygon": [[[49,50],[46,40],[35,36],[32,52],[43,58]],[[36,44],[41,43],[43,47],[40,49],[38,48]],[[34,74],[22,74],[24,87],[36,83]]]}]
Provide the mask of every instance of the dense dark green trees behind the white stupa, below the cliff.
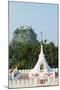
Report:
[{"label": "dense dark green trees behind the white stupa, below the cliff", "polygon": [[[19,33],[19,29],[15,32],[15,35]],[[36,40],[34,43],[21,43],[12,39],[12,43],[9,45],[9,68],[14,68],[16,65],[18,69],[31,69],[38,61],[40,53],[41,43]],[[43,50],[46,57],[46,61],[50,67],[58,67],[58,47],[53,42],[47,43],[47,40],[43,42]]]}]

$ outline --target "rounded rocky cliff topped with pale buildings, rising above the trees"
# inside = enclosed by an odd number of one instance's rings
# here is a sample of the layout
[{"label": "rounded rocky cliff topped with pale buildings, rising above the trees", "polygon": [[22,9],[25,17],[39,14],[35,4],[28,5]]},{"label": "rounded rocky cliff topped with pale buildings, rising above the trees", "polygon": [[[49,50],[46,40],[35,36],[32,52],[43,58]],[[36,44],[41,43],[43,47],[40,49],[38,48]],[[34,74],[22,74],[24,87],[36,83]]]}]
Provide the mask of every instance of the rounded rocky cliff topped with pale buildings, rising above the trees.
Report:
[{"label": "rounded rocky cliff topped with pale buildings, rising above the trees", "polygon": [[21,43],[35,42],[37,35],[31,27],[23,26],[15,30],[13,40]]}]

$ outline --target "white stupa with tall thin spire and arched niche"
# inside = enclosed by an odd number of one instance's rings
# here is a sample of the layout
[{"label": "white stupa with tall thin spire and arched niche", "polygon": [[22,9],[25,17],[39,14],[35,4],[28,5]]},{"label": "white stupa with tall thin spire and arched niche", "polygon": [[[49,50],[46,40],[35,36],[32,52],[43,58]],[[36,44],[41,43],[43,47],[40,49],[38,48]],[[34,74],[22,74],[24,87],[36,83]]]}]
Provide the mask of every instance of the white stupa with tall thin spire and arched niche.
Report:
[{"label": "white stupa with tall thin spire and arched niche", "polygon": [[40,72],[43,72],[43,73],[53,72],[53,69],[50,68],[50,66],[46,62],[45,55],[43,53],[42,33],[41,33],[41,51],[40,51],[39,58],[35,67],[30,71],[30,75],[40,74]]}]

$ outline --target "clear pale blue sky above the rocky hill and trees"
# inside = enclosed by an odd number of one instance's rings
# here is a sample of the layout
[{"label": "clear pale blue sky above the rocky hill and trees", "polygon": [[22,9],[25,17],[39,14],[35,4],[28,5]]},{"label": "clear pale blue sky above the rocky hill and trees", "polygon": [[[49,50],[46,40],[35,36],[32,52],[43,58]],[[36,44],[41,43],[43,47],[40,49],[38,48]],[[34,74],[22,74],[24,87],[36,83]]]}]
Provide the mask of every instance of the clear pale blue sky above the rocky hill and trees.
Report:
[{"label": "clear pale blue sky above the rocky hill and trees", "polygon": [[58,5],[9,2],[9,41],[13,38],[16,28],[27,24],[32,26],[37,39],[41,40],[40,32],[43,33],[43,40],[54,42],[58,45]]}]

